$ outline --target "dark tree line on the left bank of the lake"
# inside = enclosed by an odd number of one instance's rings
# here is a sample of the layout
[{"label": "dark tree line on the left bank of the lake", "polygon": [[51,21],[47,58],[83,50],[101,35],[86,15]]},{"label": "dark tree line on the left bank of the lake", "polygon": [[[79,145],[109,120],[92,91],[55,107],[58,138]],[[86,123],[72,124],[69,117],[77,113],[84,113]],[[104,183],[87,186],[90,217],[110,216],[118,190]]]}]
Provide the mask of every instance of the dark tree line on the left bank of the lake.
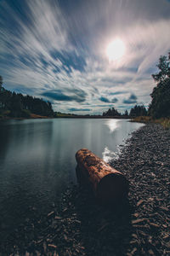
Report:
[{"label": "dark tree line on the left bank of the lake", "polygon": [[29,118],[31,113],[48,117],[54,115],[51,102],[5,90],[2,76],[0,76],[0,113],[14,118]]}]

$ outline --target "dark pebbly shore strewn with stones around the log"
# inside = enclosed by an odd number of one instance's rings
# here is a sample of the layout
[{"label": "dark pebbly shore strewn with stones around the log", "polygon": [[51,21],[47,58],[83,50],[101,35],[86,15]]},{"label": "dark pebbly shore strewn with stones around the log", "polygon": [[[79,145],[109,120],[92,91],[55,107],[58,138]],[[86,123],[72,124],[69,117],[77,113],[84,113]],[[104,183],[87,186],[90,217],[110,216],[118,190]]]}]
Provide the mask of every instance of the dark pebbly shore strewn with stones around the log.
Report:
[{"label": "dark pebbly shore strewn with stones around the log", "polygon": [[111,165],[129,183],[127,201],[105,209],[71,186],[48,214],[36,208],[1,237],[0,255],[170,255],[170,130],[145,125]]}]

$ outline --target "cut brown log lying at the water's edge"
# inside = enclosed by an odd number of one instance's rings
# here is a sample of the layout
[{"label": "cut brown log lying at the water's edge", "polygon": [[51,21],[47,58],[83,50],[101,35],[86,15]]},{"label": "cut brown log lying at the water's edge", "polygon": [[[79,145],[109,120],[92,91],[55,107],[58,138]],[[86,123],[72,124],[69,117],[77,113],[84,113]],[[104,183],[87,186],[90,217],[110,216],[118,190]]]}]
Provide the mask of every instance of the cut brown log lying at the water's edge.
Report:
[{"label": "cut brown log lying at the water's edge", "polygon": [[77,151],[77,181],[91,185],[101,204],[111,204],[127,196],[128,183],[121,172],[105,163],[87,148]]}]

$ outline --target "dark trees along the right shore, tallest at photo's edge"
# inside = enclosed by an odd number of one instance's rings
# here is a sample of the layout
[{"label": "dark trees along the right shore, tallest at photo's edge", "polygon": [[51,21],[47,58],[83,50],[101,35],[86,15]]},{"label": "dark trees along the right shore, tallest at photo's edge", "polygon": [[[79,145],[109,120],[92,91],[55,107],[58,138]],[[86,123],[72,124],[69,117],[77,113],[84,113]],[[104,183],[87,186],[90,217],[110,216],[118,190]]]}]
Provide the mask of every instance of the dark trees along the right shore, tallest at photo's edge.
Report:
[{"label": "dark trees along the right shore, tallest at photo's edge", "polygon": [[[135,105],[129,113],[126,110],[122,116],[135,118],[148,115],[153,119],[170,118],[170,53],[168,56],[161,56],[156,67],[158,67],[159,72],[152,74],[156,87],[150,94],[151,102],[148,110],[144,108],[144,105]],[[103,113],[103,116],[120,115],[121,113],[115,108],[109,108]]]}]

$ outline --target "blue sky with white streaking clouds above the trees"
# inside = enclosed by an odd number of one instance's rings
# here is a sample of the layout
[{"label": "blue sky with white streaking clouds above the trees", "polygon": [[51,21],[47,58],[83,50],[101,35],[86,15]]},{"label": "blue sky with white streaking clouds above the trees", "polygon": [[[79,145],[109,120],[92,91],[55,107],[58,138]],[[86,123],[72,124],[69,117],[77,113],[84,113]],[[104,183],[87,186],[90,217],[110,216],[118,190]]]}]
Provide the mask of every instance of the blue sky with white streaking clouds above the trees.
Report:
[{"label": "blue sky with white streaking clouds above the trees", "polygon": [[[169,39],[168,0],[0,0],[3,86],[58,112],[148,107]],[[124,50],[114,58],[117,40]]]}]

